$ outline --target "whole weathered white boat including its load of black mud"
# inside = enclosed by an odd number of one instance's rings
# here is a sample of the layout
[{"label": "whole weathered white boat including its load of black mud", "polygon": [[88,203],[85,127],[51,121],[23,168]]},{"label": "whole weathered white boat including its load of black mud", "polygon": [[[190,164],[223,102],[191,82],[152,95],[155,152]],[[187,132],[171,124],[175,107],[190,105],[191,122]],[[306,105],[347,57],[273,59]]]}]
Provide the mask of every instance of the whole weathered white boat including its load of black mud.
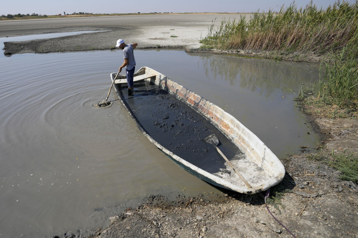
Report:
[{"label": "whole weathered white boat including its load of black mud", "polygon": [[[111,74],[112,81],[116,74]],[[128,96],[126,76],[118,75],[114,84],[118,97],[140,131],[180,167],[206,182],[247,194],[282,181],[281,161],[229,113],[149,67],[134,76],[134,95]],[[251,188],[213,145],[203,141],[211,133]]]}]

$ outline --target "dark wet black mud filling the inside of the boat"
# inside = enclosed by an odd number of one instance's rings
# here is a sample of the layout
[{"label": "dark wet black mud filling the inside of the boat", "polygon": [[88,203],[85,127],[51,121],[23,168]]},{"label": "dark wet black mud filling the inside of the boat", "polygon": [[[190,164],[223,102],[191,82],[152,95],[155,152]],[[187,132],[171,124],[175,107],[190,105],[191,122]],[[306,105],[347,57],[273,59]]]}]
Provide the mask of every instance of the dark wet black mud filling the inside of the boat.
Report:
[{"label": "dark wet black mud filling the inside of the boat", "polygon": [[203,116],[153,83],[136,85],[133,96],[127,96],[126,88],[120,89],[141,127],[163,147],[195,166],[209,173],[226,169],[224,159],[204,141],[213,133],[229,160],[243,154]]}]

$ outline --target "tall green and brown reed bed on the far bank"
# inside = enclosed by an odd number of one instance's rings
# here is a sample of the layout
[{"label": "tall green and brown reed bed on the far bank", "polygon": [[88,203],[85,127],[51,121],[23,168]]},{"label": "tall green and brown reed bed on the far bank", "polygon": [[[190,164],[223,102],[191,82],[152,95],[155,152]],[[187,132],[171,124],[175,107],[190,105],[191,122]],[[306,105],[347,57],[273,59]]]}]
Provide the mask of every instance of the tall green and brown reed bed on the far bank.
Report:
[{"label": "tall green and brown reed bed on the far bank", "polygon": [[214,23],[203,44],[218,49],[315,51],[341,50],[357,34],[358,4],[336,2],[327,9],[317,9],[311,2],[297,9],[291,4],[278,13],[256,12],[250,19]]}]

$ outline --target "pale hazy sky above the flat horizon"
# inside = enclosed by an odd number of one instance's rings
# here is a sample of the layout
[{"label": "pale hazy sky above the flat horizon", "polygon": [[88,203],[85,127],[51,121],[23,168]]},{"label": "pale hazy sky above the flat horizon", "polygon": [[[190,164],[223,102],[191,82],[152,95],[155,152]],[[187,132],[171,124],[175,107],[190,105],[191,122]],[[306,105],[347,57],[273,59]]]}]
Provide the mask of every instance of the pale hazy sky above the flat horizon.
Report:
[{"label": "pale hazy sky above the flat horizon", "polygon": [[[113,1],[113,0],[14,0],[2,1],[0,14],[46,14],[55,15],[89,12],[89,13],[133,13],[133,12],[253,12],[260,9],[277,9],[292,1],[284,0],[136,0],[136,1]],[[314,0],[316,6],[324,8],[334,4],[334,0]],[[355,0],[348,0],[353,3]],[[296,0],[297,7],[306,6],[309,0]]]}]

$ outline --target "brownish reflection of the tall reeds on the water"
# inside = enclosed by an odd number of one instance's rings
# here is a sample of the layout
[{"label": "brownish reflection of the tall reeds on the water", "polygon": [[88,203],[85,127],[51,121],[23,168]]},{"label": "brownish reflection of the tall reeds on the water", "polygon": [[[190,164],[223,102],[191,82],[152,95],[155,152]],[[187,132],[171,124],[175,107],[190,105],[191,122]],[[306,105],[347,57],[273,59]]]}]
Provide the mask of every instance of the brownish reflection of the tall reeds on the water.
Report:
[{"label": "brownish reflection of the tall reeds on the water", "polygon": [[239,85],[266,98],[277,88],[284,93],[294,91],[297,96],[301,83],[318,78],[318,66],[312,63],[223,55],[202,55],[199,61],[207,79],[224,79],[232,86]]}]

